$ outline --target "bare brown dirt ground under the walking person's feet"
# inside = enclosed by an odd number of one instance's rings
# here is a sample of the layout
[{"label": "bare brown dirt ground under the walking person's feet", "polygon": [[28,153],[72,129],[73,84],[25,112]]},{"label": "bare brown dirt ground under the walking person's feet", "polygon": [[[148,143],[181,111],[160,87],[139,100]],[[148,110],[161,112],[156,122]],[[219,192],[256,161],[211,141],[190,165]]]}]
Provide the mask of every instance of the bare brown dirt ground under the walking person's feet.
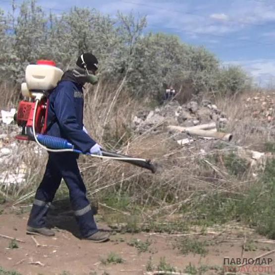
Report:
[{"label": "bare brown dirt ground under the walking person's feet", "polygon": [[[224,274],[222,268],[225,257],[256,258],[271,252],[265,258],[274,259],[274,241],[266,240],[249,228],[243,229],[233,223],[220,232],[208,230],[203,235],[190,233],[187,236],[210,242],[211,245],[206,247],[208,252],[201,256],[193,253],[181,254],[175,246],[183,236],[176,234],[114,233],[109,242],[99,244],[81,240],[74,218],[69,212],[51,217],[51,222],[55,225],[55,237],[35,236],[34,240],[34,237],[25,233],[27,219],[27,212],[10,211],[10,207],[6,207],[0,215],[0,234],[23,241],[17,241],[19,247],[11,249],[8,248],[11,240],[0,236],[0,267],[6,271],[13,270],[23,275],[143,275],[147,274],[150,257],[155,267],[165,257],[165,262],[177,271],[187,273],[186,267],[191,263],[197,269],[208,267],[208,270],[197,274],[216,275]],[[106,224],[99,223],[99,226],[106,227]],[[136,247],[127,244],[133,238],[142,241],[149,239],[151,245],[147,251],[139,253]],[[244,241],[248,251],[243,249]],[[110,252],[119,255],[124,262],[104,264],[102,259],[106,259]]]}]

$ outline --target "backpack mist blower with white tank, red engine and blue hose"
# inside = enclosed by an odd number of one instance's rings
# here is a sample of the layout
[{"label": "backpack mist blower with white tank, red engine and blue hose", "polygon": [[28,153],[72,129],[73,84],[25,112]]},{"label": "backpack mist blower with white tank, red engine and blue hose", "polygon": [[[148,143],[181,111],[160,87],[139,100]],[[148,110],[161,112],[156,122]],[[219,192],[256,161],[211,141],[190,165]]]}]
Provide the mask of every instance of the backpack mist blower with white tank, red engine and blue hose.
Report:
[{"label": "backpack mist blower with white tank, red engine and blue hose", "polygon": [[[35,141],[40,147],[49,152],[74,152],[84,154],[74,149],[73,144],[63,138],[45,135],[47,132],[48,95],[60,81],[63,71],[51,60],[39,60],[26,68],[26,82],[21,85],[24,99],[19,102],[14,119],[22,132],[15,138],[18,140]],[[150,160],[133,158],[101,150],[103,156],[86,154],[91,157],[111,159],[137,165],[156,172],[156,166]]]}]

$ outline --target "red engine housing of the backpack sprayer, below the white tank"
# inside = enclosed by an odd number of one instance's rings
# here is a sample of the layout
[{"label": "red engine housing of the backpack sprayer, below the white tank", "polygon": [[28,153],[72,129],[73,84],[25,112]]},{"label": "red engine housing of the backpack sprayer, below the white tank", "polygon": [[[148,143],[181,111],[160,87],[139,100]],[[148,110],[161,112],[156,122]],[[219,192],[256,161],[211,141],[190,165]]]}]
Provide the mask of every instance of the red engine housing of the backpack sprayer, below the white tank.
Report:
[{"label": "red engine housing of the backpack sprayer, below the white tank", "polygon": [[[25,128],[32,128],[35,102],[20,101],[16,114],[16,122],[18,126],[22,127],[22,134],[17,135],[15,138],[19,140],[29,140],[29,137],[25,133]],[[43,134],[43,130],[46,128],[45,120],[47,110],[47,99],[43,98],[37,106],[35,117],[35,131],[37,134]]]}]

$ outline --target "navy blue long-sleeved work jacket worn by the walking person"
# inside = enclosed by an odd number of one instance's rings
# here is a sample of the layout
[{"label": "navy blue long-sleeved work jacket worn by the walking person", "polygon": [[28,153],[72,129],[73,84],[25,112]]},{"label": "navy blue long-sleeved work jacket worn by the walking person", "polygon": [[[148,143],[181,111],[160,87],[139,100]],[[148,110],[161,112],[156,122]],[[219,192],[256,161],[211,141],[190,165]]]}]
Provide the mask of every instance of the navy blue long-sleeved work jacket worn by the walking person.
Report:
[{"label": "navy blue long-sleeved work jacket worn by the walking person", "polygon": [[61,137],[75,149],[87,153],[96,142],[83,131],[84,98],[82,86],[61,80],[49,96],[47,135]]}]

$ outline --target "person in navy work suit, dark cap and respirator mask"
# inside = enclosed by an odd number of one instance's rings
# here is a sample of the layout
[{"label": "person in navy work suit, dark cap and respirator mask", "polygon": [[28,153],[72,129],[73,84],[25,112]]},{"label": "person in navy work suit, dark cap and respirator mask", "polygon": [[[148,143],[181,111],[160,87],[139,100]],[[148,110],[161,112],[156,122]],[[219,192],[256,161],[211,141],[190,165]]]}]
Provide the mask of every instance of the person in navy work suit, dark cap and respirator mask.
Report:
[{"label": "person in navy work suit, dark cap and respirator mask", "polygon": [[[91,53],[78,57],[73,70],[66,71],[49,96],[46,133],[67,139],[75,149],[83,153],[102,156],[101,147],[87,134],[83,125],[83,85],[97,82],[98,60]],[[49,159],[40,183],[27,225],[28,234],[53,236],[46,227],[46,216],[63,178],[70,195],[71,206],[83,238],[103,242],[109,232],[98,229],[94,212],[86,197],[86,187],[77,165],[78,154],[49,153]]]}]

